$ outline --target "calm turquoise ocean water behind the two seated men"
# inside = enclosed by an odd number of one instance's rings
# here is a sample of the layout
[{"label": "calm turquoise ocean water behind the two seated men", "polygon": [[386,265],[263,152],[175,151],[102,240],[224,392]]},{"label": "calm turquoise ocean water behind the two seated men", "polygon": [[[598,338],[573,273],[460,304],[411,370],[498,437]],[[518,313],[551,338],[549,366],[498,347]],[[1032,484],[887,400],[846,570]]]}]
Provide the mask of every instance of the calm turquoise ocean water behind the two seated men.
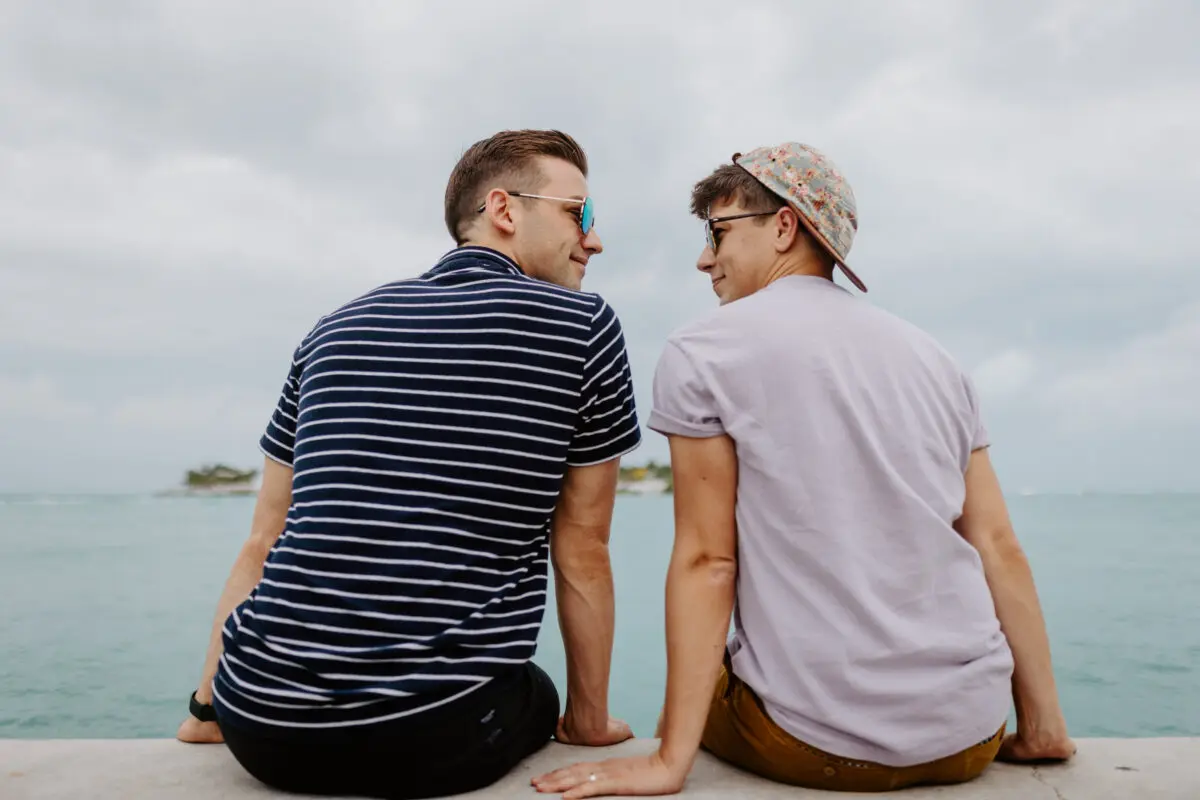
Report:
[{"label": "calm turquoise ocean water behind the two seated men", "polygon": [[[1200,735],[1200,495],[1013,497],[1076,736]],[[0,495],[0,738],[170,736],[250,498]],[[671,499],[622,497],[611,705],[653,735]],[[553,608],[538,661],[560,691]]]}]

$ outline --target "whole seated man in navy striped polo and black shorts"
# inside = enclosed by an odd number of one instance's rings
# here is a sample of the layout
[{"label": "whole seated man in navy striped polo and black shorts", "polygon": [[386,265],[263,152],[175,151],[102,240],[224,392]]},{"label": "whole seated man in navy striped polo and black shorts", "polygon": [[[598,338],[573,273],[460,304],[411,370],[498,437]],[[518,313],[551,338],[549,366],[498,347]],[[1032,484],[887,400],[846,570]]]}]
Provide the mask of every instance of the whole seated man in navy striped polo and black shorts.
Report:
[{"label": "whole seated man in navy striped polo and black shorts", "polygon": [[[607,709],[607,539],[641,433],[620,323],[580,290],[586,176],[559,132],[475,144],[446,188],[458,247],[302,338],[180,739],[284,790],[418,798],[552,735],[632,735]],[[532,662],[548,564],[562,717]]]}]

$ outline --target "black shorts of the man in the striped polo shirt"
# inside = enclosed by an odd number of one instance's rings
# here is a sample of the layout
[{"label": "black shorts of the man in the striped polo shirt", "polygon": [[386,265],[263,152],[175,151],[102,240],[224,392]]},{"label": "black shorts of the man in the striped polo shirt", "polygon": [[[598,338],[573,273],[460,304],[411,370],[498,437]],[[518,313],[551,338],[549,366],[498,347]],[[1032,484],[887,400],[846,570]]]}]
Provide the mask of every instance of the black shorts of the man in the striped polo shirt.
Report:
[{"label": "black shorts of the man in the striped polo shirt", "polygon": [[527,663],[412,720],[278,735],[220,724],[234,758],[270,787],[402,800],[491,786],[551,740],[558,708],[553,681]]}]

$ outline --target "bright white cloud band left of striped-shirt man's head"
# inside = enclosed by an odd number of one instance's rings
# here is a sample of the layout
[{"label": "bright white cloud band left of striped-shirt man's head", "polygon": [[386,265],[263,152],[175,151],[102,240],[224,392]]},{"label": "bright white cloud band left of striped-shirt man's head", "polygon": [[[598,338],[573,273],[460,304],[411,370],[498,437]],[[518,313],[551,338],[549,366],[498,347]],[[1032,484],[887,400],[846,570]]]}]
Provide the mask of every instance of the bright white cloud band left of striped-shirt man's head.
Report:
[{"label": "bright white cloud band left of striped-shirt man's head", "polygon": [[110,271],[383,276],[382,253],[446,247],[436,231],[404,233],[353,196],[221,154],[144,160],[86,146],[8,148],[0,149],[0,185],[19,199],[0,217],[6,247],[103,259]]}]

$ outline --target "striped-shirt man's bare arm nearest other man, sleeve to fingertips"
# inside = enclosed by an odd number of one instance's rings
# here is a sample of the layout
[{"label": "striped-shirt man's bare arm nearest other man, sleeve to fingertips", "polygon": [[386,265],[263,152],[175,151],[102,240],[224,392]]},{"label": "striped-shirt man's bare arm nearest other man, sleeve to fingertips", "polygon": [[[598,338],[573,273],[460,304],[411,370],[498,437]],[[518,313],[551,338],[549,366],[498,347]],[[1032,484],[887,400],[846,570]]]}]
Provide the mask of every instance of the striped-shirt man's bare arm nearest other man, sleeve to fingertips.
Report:
[{"label": "striped-shirt man's bare arm nearest other man, sleeve to fingertips", "polygon": [[566,651],[566,703],[558,739],[611,745],[632,736],[608,717],[614,625],[608,534],[620,459],[570,467],[551,522],[558,625]]}]

